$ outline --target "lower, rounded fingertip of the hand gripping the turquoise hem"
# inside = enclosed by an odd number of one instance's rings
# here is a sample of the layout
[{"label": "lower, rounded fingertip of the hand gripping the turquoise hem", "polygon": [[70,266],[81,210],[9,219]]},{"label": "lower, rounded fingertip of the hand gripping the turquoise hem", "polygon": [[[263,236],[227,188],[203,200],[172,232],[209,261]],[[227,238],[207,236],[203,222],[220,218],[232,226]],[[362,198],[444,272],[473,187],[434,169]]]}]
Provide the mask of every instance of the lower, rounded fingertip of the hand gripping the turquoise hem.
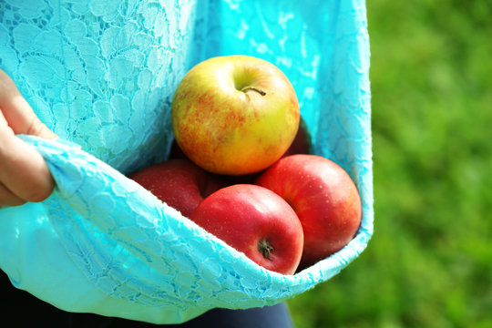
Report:
[{"label": "lower, rounded fingertip of the hand gripping the turquoise hem", "polygon": [[35,148],[15,137],[0,112],[0,182],[26,201],[45,200],[55,182],[45,159]]}]

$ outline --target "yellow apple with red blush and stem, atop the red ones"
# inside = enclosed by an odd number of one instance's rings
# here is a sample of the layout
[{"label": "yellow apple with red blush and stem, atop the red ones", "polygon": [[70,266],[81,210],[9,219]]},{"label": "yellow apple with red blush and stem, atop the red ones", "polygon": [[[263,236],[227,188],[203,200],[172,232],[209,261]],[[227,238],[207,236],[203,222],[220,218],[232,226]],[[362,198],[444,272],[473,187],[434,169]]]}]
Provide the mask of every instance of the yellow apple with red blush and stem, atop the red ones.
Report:
[{"label": "yellow apple with red blush and stem, atop the red ones", "polygon": [[179,82],[171,123],[179,148],[212,173],[266,169],[291,146],[299,103],[289,79],[253,56],[202,61]]}]

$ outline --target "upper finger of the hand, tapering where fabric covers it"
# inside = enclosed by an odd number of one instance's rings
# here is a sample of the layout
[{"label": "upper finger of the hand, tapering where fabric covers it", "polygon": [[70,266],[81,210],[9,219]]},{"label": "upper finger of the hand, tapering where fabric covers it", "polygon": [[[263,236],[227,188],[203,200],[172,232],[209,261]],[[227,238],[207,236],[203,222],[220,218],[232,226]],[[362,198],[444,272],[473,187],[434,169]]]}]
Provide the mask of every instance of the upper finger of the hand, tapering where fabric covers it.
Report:
[{"label": "upper finger of the hand, tapering where fabric covers it", "polygon": [[35,112],[22,97],[14,81],[0,69],[0,111],[15,134],[28,134],[41,138],[56,138],[56,134],[36,117]]}]

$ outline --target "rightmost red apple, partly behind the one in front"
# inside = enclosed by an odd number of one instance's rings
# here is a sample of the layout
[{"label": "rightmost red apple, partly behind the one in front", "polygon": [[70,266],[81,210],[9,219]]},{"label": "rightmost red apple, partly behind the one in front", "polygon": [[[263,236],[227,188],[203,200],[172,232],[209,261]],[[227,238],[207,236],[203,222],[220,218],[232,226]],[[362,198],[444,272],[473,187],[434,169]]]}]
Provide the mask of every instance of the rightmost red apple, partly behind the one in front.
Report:
[{"label": "rightmost red apple, partly behind the one in front", "polygon": [[348,173],[330,159],[287,156],[265,170],[255,183],[286,200],[301,220],[304,246],[300,268],[340,251],[359,229],[359,192]]}]

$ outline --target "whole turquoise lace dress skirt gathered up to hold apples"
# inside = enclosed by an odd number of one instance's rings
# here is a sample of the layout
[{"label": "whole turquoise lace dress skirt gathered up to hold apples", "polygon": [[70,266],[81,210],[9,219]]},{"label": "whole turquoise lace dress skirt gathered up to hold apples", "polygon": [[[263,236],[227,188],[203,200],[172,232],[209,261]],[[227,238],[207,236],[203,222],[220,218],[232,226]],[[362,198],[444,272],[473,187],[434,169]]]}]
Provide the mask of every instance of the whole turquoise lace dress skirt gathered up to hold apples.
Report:
[{"label": "whole turquoise lace dress skirt gathered up to hold apples", "polygon": [[[354,241],[292,276],[262,269],[125,177],[168,156],[180,78],[230,54],[282,69],[314,152],[343,166],[363,199]],[[327,281],[373,234],[369,57],[363,0],[0,0],[0,68],[60,137],[20,136],[56,190],[0,210],[0,268],[61,309],[149,323],[270,305]]]}]

